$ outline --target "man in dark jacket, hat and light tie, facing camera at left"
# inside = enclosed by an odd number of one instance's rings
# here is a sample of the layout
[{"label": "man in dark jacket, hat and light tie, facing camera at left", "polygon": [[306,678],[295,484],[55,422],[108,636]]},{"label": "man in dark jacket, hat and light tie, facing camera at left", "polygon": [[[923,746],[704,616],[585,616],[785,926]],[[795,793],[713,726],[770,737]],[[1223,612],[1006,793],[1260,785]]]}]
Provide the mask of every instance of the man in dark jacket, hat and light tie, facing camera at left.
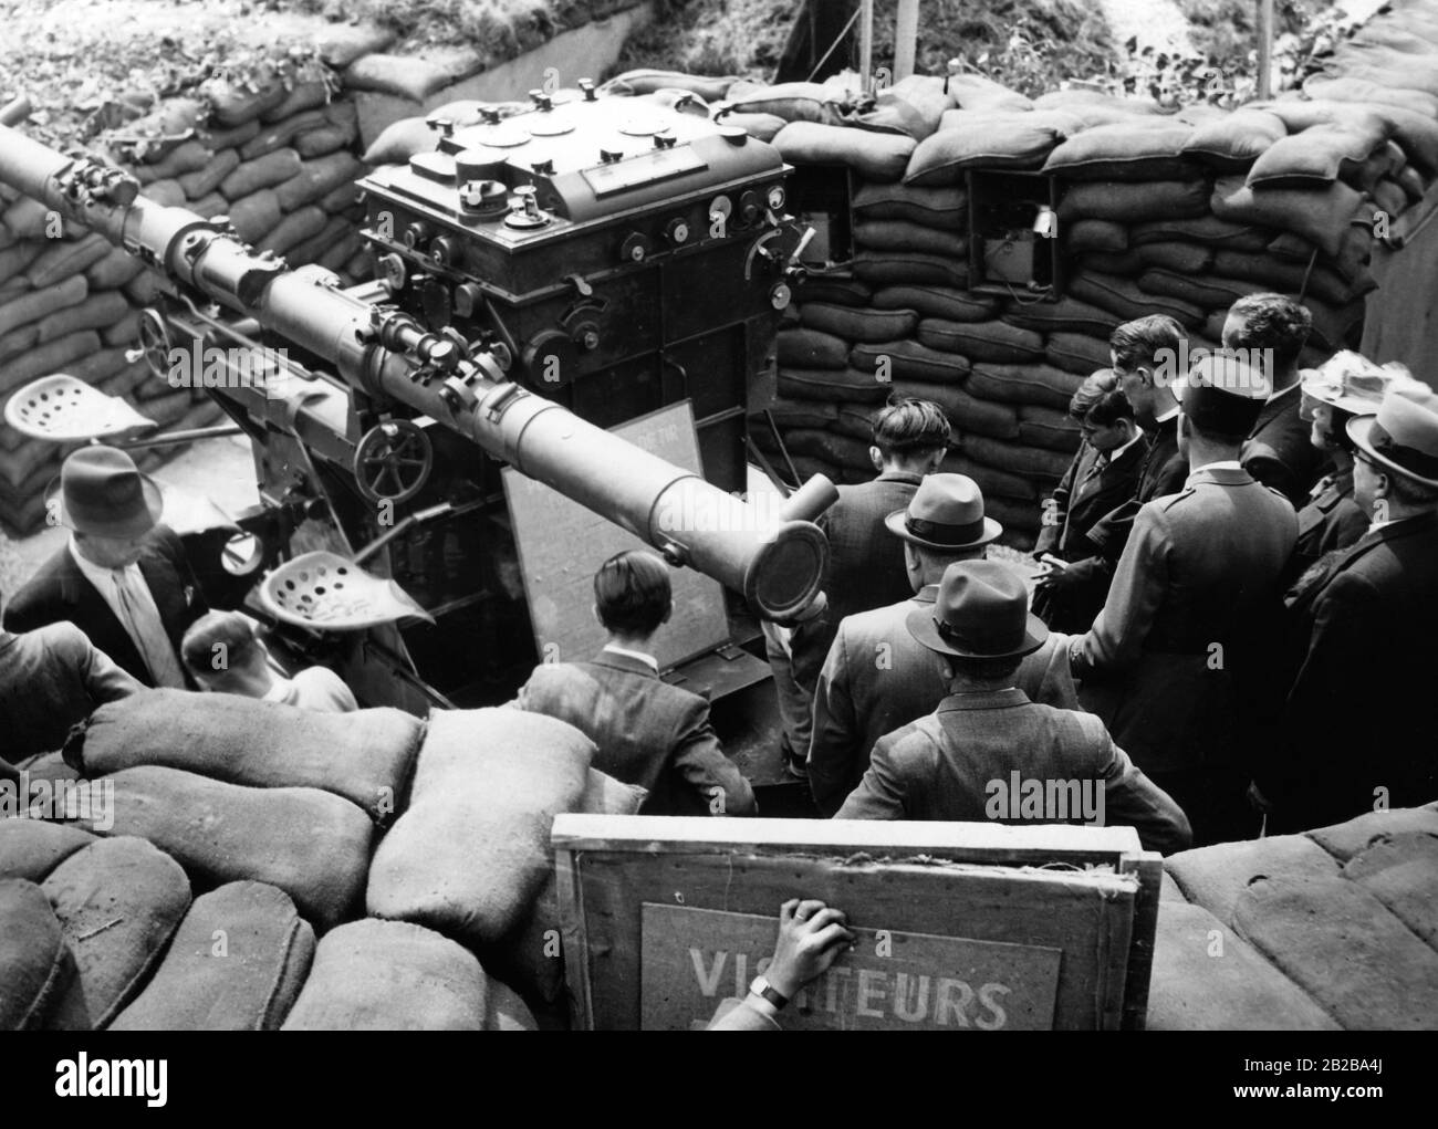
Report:
[{"label": "man in dark jacket, hat and light tie, facing camera at left", "polygon": [[70,541],[16,593],[4,626],[69,620],[141,685],[193,687],[178,647],[207,607],[180,538],[160,524],[155,482],[122,450],[82,447],[46,503]]}]

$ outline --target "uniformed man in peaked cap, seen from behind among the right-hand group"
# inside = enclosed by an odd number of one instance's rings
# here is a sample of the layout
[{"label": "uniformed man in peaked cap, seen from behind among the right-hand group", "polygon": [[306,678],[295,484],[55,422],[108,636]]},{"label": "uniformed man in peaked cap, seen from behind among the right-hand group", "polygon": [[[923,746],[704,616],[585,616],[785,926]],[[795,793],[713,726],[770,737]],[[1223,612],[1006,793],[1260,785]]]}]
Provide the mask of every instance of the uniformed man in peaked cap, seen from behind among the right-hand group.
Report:
[{"label": "uniformed man in peaked cap, seen from behind among the right-hand group", "polygon": [[1297,538],[1293,506],[1238,462],[1267,398],[1263,372],[1235,357],[1195,362],[1179,419],[1188,480],[1139,511],[1103,611],[1070,644],[1080,700],[1188,813],[1201,846],[1257,831],[1240,739],[1274,690]]}]

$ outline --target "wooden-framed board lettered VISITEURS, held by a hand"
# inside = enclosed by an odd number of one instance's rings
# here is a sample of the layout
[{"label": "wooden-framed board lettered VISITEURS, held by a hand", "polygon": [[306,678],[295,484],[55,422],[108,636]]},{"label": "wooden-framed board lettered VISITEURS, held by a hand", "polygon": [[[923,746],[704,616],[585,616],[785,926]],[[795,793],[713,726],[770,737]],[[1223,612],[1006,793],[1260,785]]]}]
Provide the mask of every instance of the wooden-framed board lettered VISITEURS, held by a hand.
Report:
[{"label": "wooden-framed board lettered VISITEURS, held by a hand", "polygon": [[580,1028],[706,1025],[791,897],[857,941],[787,1028],[1143,1025],[1160,860],[1127,827],[559,815],[554,847]]}]

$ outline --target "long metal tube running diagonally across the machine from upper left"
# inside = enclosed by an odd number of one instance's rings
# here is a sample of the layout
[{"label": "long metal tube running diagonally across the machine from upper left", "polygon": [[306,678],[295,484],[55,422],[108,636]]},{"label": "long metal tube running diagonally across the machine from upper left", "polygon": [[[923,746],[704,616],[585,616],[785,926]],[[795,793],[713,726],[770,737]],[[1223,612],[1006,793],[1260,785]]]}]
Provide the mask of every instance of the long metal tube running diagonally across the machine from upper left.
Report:
[{"label": "long metal tube running diagonally across the machine from upper left", "polygon": [[289,270],[221,223],[138,196],[137,181],[0,125],[0,181],[99,232],[173,283],[255,318],[329,361],[352,388],[401,403],[523,475],[745,594],[768,618],[804,611],[828,542],[807,521],[771,518],[506,378],[495,357],[431,334],[407,314],[344,293],[322,268]]}]

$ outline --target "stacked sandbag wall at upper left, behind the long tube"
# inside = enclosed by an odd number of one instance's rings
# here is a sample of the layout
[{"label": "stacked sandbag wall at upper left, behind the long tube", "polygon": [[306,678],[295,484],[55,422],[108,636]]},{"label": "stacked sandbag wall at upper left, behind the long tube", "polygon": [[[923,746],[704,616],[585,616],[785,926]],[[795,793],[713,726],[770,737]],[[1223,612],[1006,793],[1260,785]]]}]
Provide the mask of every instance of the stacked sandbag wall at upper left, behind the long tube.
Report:
[{"label": "stacked sandbag wall at upper left, behind the long tube", "polygon": [[[151,106],[98,148],[127,167],[150,200],[204,219],[229,216],[256,249],[290,266],[319,263],[342,285],[368,278],[354,190],[364,171],[354,152],[354,102],[332,96],[324,81],[210,93]],[[139,312],[155,299],[155,273],[98,233],[62,227],[37,200],[13,191],[0,200],[0,401],[37,377],[69,372],[129,400],[167,430],[224,420],[201,388],[174,388],[127,355],[138,348]],[[43,524],[45,486],[65,453],[0,429],[0,521],[12,531]],[[160,447],[138,462],[152,469],[174,453]]]}]

